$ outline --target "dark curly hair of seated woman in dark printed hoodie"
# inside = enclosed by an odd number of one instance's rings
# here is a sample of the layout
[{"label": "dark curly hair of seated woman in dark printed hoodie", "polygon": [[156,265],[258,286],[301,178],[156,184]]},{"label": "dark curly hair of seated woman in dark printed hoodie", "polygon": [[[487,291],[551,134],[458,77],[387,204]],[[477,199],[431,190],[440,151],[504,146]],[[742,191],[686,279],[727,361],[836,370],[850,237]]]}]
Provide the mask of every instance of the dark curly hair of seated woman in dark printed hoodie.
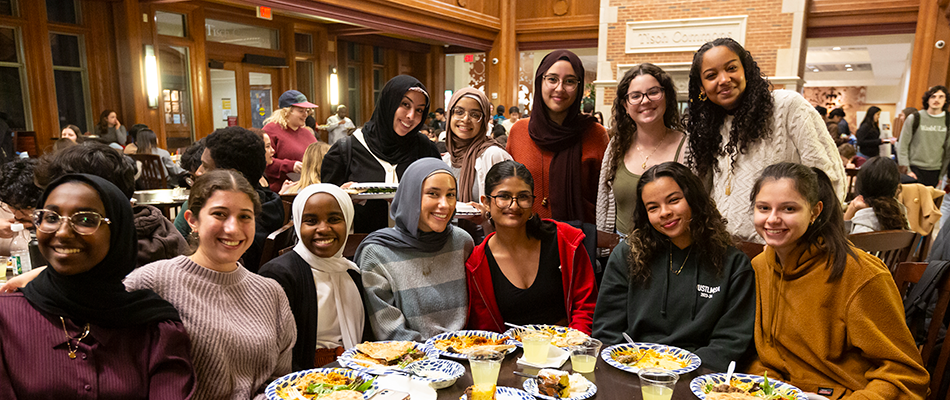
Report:
[{"label": "dark curly hair of seated woman in dark printed hoodie", "polygon": [[664,177],[679,185],[692,212],[689,221],[691,246],[695,247],[696,254],[709,260],[703,263],[704,266],[708,265],[716,274],[722,273],[726,251],[733,244],[732,236],[726,231],[726,219],[719,213],[716,202],[709,197],[699,177],[683,164],[668,161],[647,169],[637,183],[637,198],[640,200],[634,208],[633,232],[626,239],[630,245],[627,263],[630,265],[631,284],[646,285],[650,279],[650,264],[664,253],[668,245],[672,245],[669,238],[650,223],[642,196],[644,186]]}]

